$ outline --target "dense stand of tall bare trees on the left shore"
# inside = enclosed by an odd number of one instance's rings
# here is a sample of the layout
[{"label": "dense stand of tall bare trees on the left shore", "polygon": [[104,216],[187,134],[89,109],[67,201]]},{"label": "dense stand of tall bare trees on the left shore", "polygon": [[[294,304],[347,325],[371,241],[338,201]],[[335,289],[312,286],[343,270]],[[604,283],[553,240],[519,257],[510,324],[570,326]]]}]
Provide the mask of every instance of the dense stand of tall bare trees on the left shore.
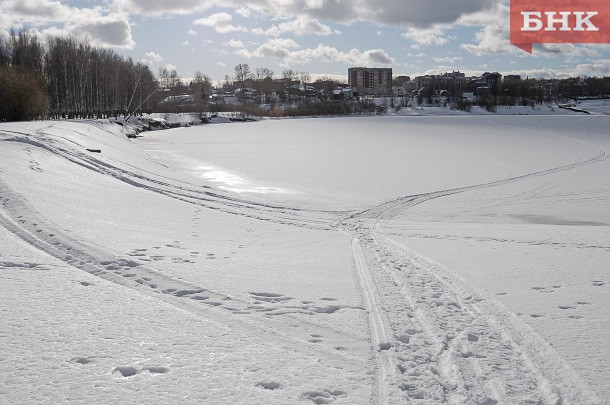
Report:
[{"label": "dense stand of tall bare trees on the left shore", "polygon": [[149,67],[73,37],[42,43],[27,31],[0,33],[0,121],[86,118],[149,109]]}]

